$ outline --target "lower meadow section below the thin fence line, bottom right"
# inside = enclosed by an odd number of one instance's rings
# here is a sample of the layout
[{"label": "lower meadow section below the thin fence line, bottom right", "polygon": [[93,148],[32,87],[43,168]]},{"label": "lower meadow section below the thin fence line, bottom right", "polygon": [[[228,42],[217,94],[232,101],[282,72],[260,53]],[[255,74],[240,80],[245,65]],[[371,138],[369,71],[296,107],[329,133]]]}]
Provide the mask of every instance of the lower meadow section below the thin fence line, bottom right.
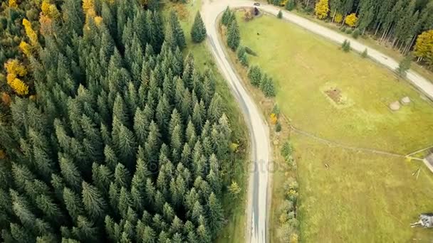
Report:
[{"label": "lower meadow section below the thin fence line, bottom right", "polygon": [[[412,229],[433,207],[433,180],[421,161],[356,153],[292,135],[301,187],[301,237],[306,242],[429,242]],[[324,163],[329,165],[325,168]],[[418,180],[412,173],[421,167]]]}]

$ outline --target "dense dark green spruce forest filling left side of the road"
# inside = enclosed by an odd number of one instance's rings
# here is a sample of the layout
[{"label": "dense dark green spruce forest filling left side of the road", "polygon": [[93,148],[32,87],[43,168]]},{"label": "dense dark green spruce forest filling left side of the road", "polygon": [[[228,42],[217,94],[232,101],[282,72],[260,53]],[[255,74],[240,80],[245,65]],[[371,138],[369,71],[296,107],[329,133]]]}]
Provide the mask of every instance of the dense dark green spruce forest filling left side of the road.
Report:
[{"label": "dense dark green spruce forest filling left side of the road", "polygon": [[36,95],[0,117],[2,240],[211,242],[233,138],[212,71],[182,57],[177,14],[43,2],[39,31],[21,21],[26,60],[5,68]]}]

